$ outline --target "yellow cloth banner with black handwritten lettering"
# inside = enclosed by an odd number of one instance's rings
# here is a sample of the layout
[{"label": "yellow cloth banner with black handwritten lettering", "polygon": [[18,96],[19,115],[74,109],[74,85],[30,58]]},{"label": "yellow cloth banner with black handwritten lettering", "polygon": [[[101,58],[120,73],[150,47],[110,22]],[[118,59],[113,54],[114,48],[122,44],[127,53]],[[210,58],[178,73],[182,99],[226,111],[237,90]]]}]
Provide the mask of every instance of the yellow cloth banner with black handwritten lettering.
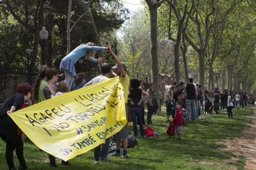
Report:
[{"label": "yellow cloth banner with black handwritten lettering", "polygon": [[105,143],[127,122],[124,90],[117,77],[9,116],[37,147],[64,161]]}]

